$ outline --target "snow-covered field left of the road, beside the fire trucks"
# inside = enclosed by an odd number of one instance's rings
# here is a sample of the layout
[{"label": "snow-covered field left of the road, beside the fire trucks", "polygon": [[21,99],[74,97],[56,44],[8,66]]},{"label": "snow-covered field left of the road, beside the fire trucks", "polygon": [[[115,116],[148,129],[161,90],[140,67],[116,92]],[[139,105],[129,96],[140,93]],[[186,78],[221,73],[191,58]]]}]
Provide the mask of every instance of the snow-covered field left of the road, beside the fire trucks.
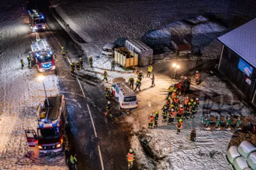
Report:
[{"label": "snow-covered field left of the road, beside the fire trucks", "polygon": [[[36,107],[47,95],[59,92],[56,76],[39,74],[36,67],[21,69],[30,50],[28,15],[17,1],[0,7],[0,169],[66,169],[63,153],[42,155],[29,148],[24,130],[36,130]],[[52,78],[54,81],[52,81]]]}]

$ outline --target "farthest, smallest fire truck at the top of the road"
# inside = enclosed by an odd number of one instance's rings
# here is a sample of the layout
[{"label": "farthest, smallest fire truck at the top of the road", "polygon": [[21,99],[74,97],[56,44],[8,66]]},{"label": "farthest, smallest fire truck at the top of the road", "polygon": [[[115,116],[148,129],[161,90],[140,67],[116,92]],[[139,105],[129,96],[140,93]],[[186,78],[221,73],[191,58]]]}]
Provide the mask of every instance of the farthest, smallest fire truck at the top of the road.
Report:
[{"label": "farthest, smallest fire truck at the top of the road", "polygon": [[39,10],[28,10],[31,29],[45,29],[45,17]]}]

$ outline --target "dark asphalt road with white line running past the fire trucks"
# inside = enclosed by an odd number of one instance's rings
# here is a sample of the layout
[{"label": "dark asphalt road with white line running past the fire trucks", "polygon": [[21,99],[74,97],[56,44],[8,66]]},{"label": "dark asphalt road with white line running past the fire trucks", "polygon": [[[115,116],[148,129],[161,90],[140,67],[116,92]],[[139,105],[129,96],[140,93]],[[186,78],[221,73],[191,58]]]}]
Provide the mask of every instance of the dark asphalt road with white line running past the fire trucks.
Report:
[{"label": "dark asphalt road with white line running past the fire trucks", "polygon": [[[47,39],[52,50],[55,50],[54,53],[56,53],[58,84],[61,93],[66,97],[69,114],[68,142],[70,152],[77,154],[77,168],[102,169],[101,153],[104,169],[127,169],[125,155],[129,150],[129,141],[126,132],[113,121],[113,118],[104,117],[103,112],[107,100],[104,99],[102,80],[98,80],[93,74],[85,72],[77,74],[77,78],[70,75],[69,63],[61,57],[61,46],[65,46],[70,60],[78,60],[81,53],[79,53],[72,38],[52,17],[48,10],[48,4],[47,0],[38,1],[38,8],[47,18],[47,26],[51,31],[47,29],[45,32],[39,32],[39,34],[41,38]],[[86,60],[86,57],[83,59]],[[79,79],[81,87],[77,79]],[[113,115],[119,113],[116,109],[113,109],[112,112]],[[96,134],[93,131],[90,113],[95,124]]]}]

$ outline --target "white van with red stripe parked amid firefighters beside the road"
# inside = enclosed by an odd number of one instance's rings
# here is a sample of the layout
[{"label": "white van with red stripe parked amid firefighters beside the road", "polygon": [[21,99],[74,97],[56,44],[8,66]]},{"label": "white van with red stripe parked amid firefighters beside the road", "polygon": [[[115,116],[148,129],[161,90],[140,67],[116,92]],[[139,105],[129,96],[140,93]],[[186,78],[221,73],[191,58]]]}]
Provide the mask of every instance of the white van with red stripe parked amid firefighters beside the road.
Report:
[{"label": "white van with red stripe parked amid firefighters beside the road", "polygon": [[125,82],[116,82],[111,87],[112,94],[116,97],[120,109],[137,108],[137,96]]}]

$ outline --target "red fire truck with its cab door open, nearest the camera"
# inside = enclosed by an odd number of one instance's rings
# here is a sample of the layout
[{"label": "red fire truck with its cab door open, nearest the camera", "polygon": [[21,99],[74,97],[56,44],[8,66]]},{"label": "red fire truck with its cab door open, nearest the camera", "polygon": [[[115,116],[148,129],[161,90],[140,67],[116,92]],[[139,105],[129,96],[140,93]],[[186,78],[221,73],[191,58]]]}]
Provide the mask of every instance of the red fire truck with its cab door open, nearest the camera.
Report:
[{"label": "red fire truck with its cab door open, nearest the camera", "polygon": [[37,132],[25,130],[29,147],[38,146],[39,152],[60,152],[65,140],[67,106],[64,95],[47,97],[38,105]]}]

